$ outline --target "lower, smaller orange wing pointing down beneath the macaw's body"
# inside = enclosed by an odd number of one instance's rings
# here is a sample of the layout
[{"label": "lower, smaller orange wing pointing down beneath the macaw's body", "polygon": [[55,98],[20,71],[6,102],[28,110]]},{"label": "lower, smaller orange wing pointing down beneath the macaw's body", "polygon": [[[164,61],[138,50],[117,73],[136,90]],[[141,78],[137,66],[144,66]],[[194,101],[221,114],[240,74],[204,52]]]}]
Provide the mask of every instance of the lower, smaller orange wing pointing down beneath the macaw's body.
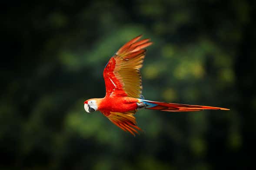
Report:
[{"label": "lower, smaller orange wing pointing down beneath the macaw's body", "polygon": [[133,136],[135,136],[134,132],[139,134],[137,130],[141,131],[140,127],[137,126],[136,119],[134,117],[134,111],[130,112],[109,112],[108,115],[106,113],[103,113],[106,115],[109,120],[115,124],[116,126],[120,127],[123,131],[128,131]]}]

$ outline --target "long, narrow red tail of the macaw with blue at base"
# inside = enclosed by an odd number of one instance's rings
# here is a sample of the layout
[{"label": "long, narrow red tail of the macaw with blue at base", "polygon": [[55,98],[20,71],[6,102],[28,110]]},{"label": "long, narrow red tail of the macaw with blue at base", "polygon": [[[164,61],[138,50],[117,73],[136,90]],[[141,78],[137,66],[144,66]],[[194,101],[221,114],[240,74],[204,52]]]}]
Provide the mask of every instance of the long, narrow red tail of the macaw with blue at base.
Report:
[{"label": "long, narrow red tail of the macaw with blue at base", "polygon": [[149,100],[143,100],[143,99],[140,99],[140,101],[146,104],[147,109],[160,110],[160,111],[182,112],[182,111],[202,111],[205,109],[230,110],[228,108],[199,106],[199,105],[183,105],[183,104],[167,103],[167,102],[160,102],[160,101],[149,101]]}]

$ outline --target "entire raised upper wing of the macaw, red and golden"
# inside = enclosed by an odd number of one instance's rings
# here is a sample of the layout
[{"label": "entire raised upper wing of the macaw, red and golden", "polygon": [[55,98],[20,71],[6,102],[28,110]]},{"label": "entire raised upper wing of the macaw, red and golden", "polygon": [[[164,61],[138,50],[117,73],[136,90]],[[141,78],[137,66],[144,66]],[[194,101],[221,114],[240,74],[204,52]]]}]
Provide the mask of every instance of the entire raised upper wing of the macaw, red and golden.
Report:
[{"label": "entire raised upper wing of the macaw, red and golden", "polygon": [[150,39],[138,41],[142,35],[127,42],[107,63],[103,77],[106,85],[106,96],[119,95],[140,98],[142,80],[140,68],[146,54]]}]

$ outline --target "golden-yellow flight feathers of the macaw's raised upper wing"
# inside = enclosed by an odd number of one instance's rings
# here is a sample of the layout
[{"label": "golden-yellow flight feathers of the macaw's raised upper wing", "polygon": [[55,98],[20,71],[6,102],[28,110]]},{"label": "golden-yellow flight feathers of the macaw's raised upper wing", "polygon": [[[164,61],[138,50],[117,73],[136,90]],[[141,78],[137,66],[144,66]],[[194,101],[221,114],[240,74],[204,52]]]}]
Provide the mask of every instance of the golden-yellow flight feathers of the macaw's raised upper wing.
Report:
[{"label": "golden-yellow flight feathers of the macaw's raised upper wing", "polygon": [[146,54],[146,49],[144,48],[152,44],[150,39],[138,41],[141,37],[142,35],[137,36],[130,42],[127,42],[113,56],[116,62],[113,71],[114,75],[123,85],[123,90],[127,96],[133,98],[140,98],[142,93],[140,68],[143,65]]}]

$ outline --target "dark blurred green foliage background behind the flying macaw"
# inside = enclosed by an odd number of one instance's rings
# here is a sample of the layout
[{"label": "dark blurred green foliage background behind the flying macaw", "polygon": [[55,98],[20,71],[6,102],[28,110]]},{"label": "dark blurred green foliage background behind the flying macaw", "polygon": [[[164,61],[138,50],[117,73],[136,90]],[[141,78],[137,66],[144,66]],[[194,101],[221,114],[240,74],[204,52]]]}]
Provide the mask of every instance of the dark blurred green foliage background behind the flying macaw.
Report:
[{"label": "dark blurred green foliage background behind the flying macaw", "polygon": [[[252,167],[255,11],[245,0],[2,2],[0,168]],[[140,34],[154,42],[141,70],[146,99],[231,111],[142,110],[136,137],[87,114],[83,101],[105,95],[110,56]]]}]

